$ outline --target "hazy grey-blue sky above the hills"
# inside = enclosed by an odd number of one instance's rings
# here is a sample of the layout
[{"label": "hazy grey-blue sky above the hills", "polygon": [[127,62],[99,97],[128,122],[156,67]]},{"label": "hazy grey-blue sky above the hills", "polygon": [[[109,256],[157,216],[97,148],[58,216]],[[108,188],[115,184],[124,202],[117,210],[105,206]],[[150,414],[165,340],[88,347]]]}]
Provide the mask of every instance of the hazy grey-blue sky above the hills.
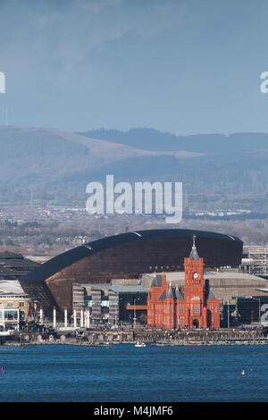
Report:
[{"label": "hazy grey-blue sky above the hills", "polygon": [[0,0],[0,122],[268,132],[267,0]]}]

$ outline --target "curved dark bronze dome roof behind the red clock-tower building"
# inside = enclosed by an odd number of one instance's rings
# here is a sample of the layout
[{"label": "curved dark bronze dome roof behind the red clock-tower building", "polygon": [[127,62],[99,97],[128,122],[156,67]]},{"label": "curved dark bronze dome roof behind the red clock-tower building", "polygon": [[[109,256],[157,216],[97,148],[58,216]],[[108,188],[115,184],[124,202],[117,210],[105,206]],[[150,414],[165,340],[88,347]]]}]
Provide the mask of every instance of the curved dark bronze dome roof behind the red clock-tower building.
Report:
[{"label": "curved dark bronze dome roof behind the red clock-tower building", "polygon": [[72,284],[111,284],[141,273],[183,270],[184,256],[197,236],[206,268],[239,267],[243,242],[210,231],[164,229],[133,231],[98,239],[56,256],[20,279],[22,289],[47,314],[72,311]]}]

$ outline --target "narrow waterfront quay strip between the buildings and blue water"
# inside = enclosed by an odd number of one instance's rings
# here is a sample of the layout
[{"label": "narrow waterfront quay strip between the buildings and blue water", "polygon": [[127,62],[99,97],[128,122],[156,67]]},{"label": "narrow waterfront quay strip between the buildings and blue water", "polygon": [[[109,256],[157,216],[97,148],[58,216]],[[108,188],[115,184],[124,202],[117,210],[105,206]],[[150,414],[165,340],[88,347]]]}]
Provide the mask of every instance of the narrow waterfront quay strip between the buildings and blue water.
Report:
[{"label": "narrow waterfront quay strip between the buildings and blue water", "polygon": [[264,345],[268,344],[266,330],[129,330],[101,331],[83,330],[70,332],[58,330],[44,335],[39,332],[13,332],[0,337],[1,346],[23,347],[29,345],[56,345],[111,347],[118,344],[133,345],[143,342],[147,346],[226,346],[226,345]]}]

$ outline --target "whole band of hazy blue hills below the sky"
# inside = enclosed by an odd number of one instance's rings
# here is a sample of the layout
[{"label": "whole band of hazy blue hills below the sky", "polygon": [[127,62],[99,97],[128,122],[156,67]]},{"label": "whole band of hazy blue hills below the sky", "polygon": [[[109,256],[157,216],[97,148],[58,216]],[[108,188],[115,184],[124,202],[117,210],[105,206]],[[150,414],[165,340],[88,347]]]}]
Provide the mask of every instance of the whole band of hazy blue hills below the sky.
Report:
[{"label": "whole band of hazy blue hills below the sky", "polygon": [[[0,127],[0,199],[73,197],[90,181],[182,181],[200,206],[268,211],[268,135]],[[24,194],[24,196],[23,196]]]}]

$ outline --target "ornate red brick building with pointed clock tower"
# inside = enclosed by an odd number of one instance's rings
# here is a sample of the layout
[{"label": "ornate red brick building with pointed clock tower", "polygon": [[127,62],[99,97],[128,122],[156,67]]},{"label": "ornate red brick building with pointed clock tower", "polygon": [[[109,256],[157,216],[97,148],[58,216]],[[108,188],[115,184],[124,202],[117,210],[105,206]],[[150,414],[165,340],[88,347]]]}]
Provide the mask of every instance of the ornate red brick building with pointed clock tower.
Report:
[{"label": "ornate red brick building with pointed clock tower", "polygon": [[185,284],[172,288],[165,274],[156,274],[147,298],[147,326],[174,328],[220,328],[220,300],[204,281],[204,259],[194,243],[184,258]]}]

